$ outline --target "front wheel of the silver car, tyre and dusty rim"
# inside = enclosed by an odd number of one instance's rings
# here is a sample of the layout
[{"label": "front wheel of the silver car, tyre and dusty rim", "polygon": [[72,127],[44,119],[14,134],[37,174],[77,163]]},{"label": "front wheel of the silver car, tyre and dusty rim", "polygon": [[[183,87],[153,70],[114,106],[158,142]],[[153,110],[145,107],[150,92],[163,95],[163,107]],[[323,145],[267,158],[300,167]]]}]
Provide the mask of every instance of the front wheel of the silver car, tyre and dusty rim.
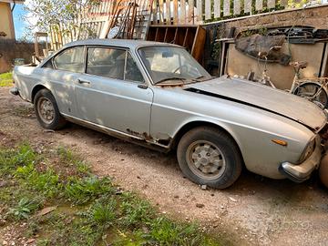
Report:
[{"label": "front wheel of the silver car, tyre and dusty rim", "polygon": [[218,128],[191,129],[179,140],[177,158],[187,178],[214,189],[230,187],[241,175],[240,149]]}]

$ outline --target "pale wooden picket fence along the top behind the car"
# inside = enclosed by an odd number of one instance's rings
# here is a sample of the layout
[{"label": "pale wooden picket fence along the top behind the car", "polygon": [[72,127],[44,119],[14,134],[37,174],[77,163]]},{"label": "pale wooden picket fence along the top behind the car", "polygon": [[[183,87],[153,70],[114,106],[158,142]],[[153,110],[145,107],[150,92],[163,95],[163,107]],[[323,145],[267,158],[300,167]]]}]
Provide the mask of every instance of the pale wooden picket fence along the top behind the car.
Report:
[{"label": "pale wooden picket fence along the top behind the car", "polygon": [[79,23],[84,27],[83,32],[77,33],[80,26],[68,28],[59,25],[52,28],[53,48],[77,39],[100,36],[105,23],[113,18],[115,6],[131,2],[138,4],[139,15],[151,11],[149,19],[156,25],[202,25],[220,18],[273,11],[277,6],[283,9],[288,5],[288,0],[102,0],[100,5],[87,9],[87,15]]}]

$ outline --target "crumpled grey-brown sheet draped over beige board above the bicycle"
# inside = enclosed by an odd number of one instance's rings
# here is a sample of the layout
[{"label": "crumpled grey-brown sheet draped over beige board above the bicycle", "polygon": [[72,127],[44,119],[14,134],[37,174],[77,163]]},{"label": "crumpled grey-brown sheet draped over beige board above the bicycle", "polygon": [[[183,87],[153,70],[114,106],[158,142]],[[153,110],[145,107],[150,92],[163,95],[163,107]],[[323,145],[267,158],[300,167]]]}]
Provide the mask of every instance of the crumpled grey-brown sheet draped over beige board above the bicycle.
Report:
[{"label": "crumpled grey-brown sheet draped over beige board above the bicycle", "polygon": [[[280,36],[261,36],[254,34],[252,36],[237,36],[235,38],[236,49],[246,56],[267,61],[278,62],[282,65],[288,65],[291,56],[283,54],[280,49],[272,49],[275,46],[282,46],[285,40],[284,35]],[[265,54],[267,60],[259,54]]]}]

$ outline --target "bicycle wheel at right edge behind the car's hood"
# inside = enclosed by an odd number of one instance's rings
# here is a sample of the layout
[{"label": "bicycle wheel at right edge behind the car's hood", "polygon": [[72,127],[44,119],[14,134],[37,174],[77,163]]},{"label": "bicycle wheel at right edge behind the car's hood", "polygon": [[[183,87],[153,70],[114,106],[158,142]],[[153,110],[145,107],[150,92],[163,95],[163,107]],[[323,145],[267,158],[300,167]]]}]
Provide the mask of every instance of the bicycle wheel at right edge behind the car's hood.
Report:
[{"label": "bicycle wheel at right edge behind the car's hood", "polygon": [[327,91],[319,83],[304,82],[296,87],[292,94],[309,99],[321,108],[328,108]]}]

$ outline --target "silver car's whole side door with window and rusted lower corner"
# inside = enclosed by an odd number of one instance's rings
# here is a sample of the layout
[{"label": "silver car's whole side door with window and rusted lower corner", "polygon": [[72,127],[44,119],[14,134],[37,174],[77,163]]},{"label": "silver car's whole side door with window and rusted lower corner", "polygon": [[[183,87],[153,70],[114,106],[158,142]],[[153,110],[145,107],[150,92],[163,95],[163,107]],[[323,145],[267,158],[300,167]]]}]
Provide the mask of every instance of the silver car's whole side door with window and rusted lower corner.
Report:
[{"label": "silver car's whole side door with window and rusted lower corner", "polygon": [[149,135],[153,92],[127,49],[88,46],[86,73],[76,88],[80,118],[139,138]]}]

